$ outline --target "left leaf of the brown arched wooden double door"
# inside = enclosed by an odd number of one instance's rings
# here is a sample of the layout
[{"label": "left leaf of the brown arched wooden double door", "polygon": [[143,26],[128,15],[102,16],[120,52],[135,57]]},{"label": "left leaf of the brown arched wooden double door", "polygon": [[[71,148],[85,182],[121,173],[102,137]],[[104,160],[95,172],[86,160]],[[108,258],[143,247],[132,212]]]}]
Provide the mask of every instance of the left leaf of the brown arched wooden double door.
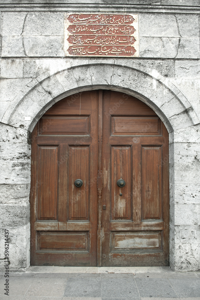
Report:
[{"label": "left leaf of the brown arched wooden double door", "polygon": [[75,96],[32,133],[31,265],[97,265],[98,91]]}]

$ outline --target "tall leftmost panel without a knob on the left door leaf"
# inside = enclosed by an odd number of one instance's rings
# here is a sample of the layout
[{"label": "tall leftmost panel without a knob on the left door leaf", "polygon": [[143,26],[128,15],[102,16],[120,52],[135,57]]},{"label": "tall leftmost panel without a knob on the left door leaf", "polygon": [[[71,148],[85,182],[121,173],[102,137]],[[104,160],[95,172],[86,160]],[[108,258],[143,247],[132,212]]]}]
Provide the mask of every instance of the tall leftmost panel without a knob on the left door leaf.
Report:
[{"label": "tall leftmost panel without a knob on the left door leaf", "polygon": [[57,220],[58,146],[38,146],[38,220]]}]

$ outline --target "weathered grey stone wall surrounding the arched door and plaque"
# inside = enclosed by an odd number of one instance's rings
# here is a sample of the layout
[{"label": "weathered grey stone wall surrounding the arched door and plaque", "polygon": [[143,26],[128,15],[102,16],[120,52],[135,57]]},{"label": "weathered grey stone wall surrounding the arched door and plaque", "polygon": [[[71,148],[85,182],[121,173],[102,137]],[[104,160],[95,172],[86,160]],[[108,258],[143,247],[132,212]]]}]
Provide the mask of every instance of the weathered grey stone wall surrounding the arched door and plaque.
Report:
[{"label": "weathered grey stone wall surrounding the arched door and plaque", "polygon": [[[166,125],[170,265],[179,271],[199,270],[199,1],[85,1],[85,7],[35,2],[0,4],[0,226],[10,232],[10,268],[25,270],[30,261],[30,132],[60,99],[106,88],[136,96]],[[139,58],[64,57],[64,13],[75,11],[138,13]],[[3,247],[1,242],[0,258]]]}]

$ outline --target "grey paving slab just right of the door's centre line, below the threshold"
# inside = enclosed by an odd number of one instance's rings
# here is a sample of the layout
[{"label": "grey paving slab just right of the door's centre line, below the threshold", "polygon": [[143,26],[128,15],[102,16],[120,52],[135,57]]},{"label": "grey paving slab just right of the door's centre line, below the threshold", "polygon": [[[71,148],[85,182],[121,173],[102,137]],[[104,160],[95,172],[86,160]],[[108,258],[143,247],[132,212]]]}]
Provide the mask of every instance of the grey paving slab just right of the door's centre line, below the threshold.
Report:
[{"label": "grey paving slab just right of the door's centre line, below the threshold", "polygon": [[140,295],[133,278],[102,278],[101,293],[102,298],[140,299]]}]

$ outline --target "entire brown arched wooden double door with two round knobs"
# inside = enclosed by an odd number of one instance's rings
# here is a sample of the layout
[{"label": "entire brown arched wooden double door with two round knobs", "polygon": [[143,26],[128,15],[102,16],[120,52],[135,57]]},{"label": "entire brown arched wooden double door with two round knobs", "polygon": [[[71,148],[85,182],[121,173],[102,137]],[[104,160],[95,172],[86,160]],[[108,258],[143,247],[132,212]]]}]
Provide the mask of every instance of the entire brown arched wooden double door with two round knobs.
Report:
[{"label": "entire brown arched wooden double door with two round knobs", "polygon": [[54,104],[32,133],[31,265],[169,265],[169,140],[116,91]]}]

